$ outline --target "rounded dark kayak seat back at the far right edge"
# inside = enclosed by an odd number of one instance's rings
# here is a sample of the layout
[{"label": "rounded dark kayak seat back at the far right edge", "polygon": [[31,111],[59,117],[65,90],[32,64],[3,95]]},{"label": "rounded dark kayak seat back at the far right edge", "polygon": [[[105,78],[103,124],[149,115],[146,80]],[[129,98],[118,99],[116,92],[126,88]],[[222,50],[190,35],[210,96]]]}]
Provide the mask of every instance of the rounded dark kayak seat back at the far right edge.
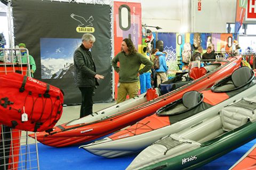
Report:
[{"label": "rounded dark kayak seat back at the far right edge", "polygon": [[252,77],[249,67],[241,67],[233,72],[231,80],[236,87],[246,84]]}]

